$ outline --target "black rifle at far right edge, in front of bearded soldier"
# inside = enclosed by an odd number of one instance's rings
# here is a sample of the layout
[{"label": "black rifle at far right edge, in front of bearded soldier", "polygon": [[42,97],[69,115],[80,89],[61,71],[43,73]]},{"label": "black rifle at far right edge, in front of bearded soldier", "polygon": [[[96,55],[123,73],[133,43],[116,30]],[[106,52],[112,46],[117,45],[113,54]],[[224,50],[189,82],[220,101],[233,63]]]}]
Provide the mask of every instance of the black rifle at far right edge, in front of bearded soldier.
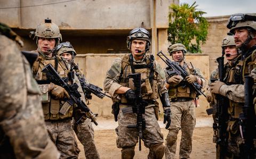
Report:
[{"label": "black rifle at far right edge, in front of bearded soldier", "polygon": [[239,114],[241,120],[240,132],[244,139],[244,144],[241,146],[242,158],[254,158],[253,139],[255,137],[255,114],[253,106],[253,78],[245,76],[244,83],[244,99],[243,113]]}]

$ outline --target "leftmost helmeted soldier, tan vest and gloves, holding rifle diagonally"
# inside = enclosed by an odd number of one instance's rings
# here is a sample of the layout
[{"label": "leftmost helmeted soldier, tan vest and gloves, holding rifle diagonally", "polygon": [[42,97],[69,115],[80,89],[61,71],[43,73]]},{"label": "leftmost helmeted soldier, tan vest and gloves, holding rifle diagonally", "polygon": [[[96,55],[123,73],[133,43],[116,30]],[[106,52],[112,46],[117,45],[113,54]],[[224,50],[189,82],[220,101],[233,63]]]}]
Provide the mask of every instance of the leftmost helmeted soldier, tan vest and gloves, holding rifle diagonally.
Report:
[{"label": "leftmost helmeted soldier, tan vest and gloves, holding rifle diagonally", "polygon": [[[61,77],[68,77],[70,65],[64,58],[53,53],[53,48],[61,40],[60,30],[50,19],[45,19],[45,23],[39,24],[36,27],[36,32],[30,32],[30,35],[32,37],[34,35],[38,46],[37,50],[34,51],[39,56],[33,64],[33,74],[42,93],[42,106],[47,130],[61,152],[61,158],[77,158],[79,149],[70,121],[72,116],[76,118],[79,115],[73,113],[73,105],[65,102],[65,99],[69,98],[67,91],[50,82],[46,74],[42,72],[44,66],[51,63]],[[78,83],[79,93],[84,97],[76,76],[74,82]]]}]

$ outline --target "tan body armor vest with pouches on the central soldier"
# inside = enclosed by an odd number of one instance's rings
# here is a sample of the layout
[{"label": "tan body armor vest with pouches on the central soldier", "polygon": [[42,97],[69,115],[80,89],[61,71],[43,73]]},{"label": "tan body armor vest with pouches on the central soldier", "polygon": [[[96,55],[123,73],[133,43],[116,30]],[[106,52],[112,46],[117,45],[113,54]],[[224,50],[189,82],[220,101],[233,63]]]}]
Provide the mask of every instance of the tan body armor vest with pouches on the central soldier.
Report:
[{"label": "tan body armor vest with pouches on the central soldier", "polygon": [[[129,79],[129,74],[132,73],[132,68],[130,65],[131,54],[126,54],[122,57],[122,71],[120,76],[120,85],[124,87],[129,87],[134,90],[134,83],[132,79]],[[142,99],[156,100],[158,98],[158,86],[157,86],[157,76],[158,73],[155,71],[156,63],[153,59],[150,59],[149,55],[146,55],[144,60],[139,63],[133,62],[135,73],[141,73],[141,94]],[[133,60],[132,60],[133,61]],[[120,94],[121,103],[127,103],[124,94]]]}]

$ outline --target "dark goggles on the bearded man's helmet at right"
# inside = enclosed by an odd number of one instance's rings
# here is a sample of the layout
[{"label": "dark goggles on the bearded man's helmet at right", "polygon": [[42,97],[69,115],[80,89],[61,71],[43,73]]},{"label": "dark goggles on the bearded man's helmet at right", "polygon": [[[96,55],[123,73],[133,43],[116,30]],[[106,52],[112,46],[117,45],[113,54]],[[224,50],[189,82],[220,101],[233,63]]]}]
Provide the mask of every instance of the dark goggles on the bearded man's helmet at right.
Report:
[{"label": "dark goggles on the bearded man's helmet at right", "polygon": [[256,21],[256,16],[248,15],[248,14],[242,14],[242,13],[237,13],[233,14],[230,16],[228,23],[227,23],[227,28],[231,29],[236,26],[238,22],[244,22],[244,21]]}]

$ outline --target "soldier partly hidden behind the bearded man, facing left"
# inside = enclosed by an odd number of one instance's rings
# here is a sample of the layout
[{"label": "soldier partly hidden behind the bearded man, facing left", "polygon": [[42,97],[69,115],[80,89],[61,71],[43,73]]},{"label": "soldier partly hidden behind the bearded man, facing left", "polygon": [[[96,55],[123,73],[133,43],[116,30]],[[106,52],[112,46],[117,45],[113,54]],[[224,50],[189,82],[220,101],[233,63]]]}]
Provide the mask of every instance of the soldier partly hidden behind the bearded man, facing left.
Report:
[{"label": "soldier partly hidden behind the bearded man, facing left", "polygon": [[[236,49],[236,43],[234,36],[228,35],[222,40],[222,55],[225,54],[227,58],[227,63],[224,66],[225,69],[225,83],[229,83],[231,85],[232,83],[234,84],[234,81],[230,81],[231,79],[228,79],[232,72],[234,72],[235,65],[238,63],[238,61],[241,59],[241,55],[238,57],[238,52]],[[233,70],[233,71],[232,71]],[[230,74],[231,73],[231,74]],[[218,68],[213,70],[210,79],[208,81],[208,88],[206,92],[206,99],[210,103],[210,107],[216,109],[216,101],[214,100],[212,94],[211,94],[211,89],[210,89],[210,84],[212,81],[217,80],[219,78],[219,72]],[[229,80],[229,81],[228,81]],[[234,79],[233,79],[234,80]],[[215,111],[214,111],[215,112]],[[213,120],[215,120],[215,114],[213,114]]]}]

